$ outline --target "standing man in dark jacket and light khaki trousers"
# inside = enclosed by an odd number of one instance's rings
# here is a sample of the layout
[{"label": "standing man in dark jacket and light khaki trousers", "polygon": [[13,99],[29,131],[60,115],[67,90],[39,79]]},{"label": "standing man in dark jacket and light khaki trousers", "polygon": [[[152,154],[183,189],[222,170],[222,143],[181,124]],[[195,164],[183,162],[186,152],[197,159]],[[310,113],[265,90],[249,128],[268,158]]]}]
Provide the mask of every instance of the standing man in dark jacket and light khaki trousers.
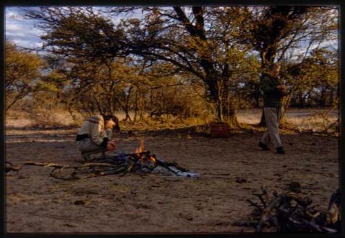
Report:
[{"label": "standing man in dark jacket and light khaki trousers", "polygon": [[262,150],[269,150],[268,144],[273,143],[277,154],[284,155],[282,141],[279,137],[279,120],[282,117],[282,99],[286,94],[286,86],[277,79],[280,66],[273,63],[268,66],[268,73],[263,73],[260,79],[260,86],[264,92],[264,117],[266,121],[266,131],[259,142]]}]

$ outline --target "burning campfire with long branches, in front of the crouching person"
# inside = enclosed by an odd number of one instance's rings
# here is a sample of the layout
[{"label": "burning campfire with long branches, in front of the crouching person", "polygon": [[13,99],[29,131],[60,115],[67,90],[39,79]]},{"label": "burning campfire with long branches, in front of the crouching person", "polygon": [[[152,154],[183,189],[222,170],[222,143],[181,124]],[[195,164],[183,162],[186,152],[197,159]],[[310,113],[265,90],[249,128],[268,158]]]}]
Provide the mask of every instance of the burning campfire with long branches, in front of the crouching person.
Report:
[{"label": "burning campfire with long branches, in front of the crouching person", "polygon": [[117,155],[110,155],[108,157],[95,158],[81,166],[63,166],[57,163],[36,163],[26,161],[19,167],[8,163],[6,172],[18,171],[23,166],[44,166],[54,168],[50,172],[50,176],[57,179],[86,179],[90,177],[98,177],[103,175],[119,174],[120,177],[126,175],[128,172],[143,174],[160,174],[164,176],[176,177],[198,177],[198,174],[181,168],[176,162],[163,161],[156,155],[150,153],[149,150],[144,149],[144,141],[141,140],[139,148],[135,153],[117,153]]}]

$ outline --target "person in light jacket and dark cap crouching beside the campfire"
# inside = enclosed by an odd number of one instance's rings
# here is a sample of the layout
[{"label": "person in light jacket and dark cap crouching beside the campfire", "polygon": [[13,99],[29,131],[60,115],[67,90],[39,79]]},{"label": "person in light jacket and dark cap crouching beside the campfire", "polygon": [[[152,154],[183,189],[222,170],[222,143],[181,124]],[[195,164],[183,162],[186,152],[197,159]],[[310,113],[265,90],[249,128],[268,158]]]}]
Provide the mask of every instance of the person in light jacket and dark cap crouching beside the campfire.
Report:
[{"label": "person in light jacket and dark cap crouching beside the campfire", "polygon": [[97,115],[86,119],[79,129],[76,138],[77,148],[85,161],[90,155],[115,150],[115,143],[111,141],[112,132],[119,132],[119,120],[112,115]]}]

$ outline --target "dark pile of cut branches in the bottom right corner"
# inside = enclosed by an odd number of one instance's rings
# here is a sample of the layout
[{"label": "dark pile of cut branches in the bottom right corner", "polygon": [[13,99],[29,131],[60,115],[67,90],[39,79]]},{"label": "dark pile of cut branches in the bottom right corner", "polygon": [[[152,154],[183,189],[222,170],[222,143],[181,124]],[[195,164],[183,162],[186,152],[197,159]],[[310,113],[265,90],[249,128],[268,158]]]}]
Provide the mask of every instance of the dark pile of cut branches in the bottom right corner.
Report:
[{"label": "dark pile of cut branches in the bottom right corner", "polygon": [[340,227],[339,188],[333,193],[327,210],[316,210],[309,197],[302,197],[291,190],[280,195],[273,192],[270,197],[262,188],[262,193],[254,194],[259,201],[248,199],[254,209],[250,221],[237,221],[234,226],[247,226],[262,232],[264,228],[276,232],[338,232]]}]

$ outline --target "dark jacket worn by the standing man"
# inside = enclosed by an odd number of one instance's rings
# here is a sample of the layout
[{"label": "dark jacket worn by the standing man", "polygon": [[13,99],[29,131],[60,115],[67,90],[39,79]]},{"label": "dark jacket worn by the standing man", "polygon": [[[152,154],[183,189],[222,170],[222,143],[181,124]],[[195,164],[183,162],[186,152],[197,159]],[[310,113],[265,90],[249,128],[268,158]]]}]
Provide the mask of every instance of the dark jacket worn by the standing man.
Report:
[{"label": "dark jacket worn by the standing man", "polygon": [[282,99],[284,94],[282,90],[276,88],[282,85],[279,79],[263,73],[260,79],[260,88],[264,93],[264,107],[274,108],[282,106]]}]

